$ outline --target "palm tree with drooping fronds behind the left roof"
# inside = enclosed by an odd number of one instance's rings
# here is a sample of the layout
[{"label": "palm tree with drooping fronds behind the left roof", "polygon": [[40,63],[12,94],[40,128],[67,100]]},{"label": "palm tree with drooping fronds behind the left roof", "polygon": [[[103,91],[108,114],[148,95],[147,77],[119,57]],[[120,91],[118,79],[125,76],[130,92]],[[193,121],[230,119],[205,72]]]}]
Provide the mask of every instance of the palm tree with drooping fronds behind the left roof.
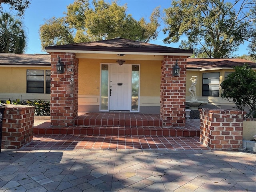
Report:
[{"label": "palm tree with drooping fronds behind the left roof", "polygon": [[26,48],[26,35],[22,22],[10,13],[0,15],[0,52],[23,53]]}]

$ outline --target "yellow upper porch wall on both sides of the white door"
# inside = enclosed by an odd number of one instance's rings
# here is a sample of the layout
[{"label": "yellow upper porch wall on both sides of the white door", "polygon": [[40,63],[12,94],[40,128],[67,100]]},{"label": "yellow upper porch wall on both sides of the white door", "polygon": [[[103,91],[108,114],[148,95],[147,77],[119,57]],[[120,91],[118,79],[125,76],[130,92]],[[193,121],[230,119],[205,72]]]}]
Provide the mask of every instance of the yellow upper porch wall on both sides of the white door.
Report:
[{"label": "yellow upper porch wall on both sides of the white door", "polygon": [[[79,59],[79,95],[100,95],[100,64],[116,60]],[[140,64],[140,96],[160,96],[161,61],[126,60],[126,64]]]}]

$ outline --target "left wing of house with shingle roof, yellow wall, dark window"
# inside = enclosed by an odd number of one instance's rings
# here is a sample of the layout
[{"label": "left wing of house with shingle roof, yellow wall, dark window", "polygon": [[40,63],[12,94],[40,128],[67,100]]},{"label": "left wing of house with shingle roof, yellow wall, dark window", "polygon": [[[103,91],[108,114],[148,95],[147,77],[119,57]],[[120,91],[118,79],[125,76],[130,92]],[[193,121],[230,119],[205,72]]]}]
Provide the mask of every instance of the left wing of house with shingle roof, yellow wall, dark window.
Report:
[{"label": "left wing of house with shingle roof, yellow wall, dark window", "polygon": [[49,54],[0,53],[0,100],[50,100]]}]

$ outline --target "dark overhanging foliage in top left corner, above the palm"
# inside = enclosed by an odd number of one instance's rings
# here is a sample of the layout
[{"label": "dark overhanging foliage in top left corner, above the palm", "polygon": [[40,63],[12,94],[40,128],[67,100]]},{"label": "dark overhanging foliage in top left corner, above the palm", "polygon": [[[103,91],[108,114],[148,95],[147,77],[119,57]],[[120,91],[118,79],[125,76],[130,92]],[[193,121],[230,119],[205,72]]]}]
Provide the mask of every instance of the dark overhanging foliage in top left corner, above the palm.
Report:
[{"label": "dark overhanging foliage in top left corner, above the palm", "polygon": [[26,8],[30,5],[30,0],[0,0],[0,11],[2,12],[2,4],[8,4],[10,9],[17,10],[18,16],[24,15]]}]

